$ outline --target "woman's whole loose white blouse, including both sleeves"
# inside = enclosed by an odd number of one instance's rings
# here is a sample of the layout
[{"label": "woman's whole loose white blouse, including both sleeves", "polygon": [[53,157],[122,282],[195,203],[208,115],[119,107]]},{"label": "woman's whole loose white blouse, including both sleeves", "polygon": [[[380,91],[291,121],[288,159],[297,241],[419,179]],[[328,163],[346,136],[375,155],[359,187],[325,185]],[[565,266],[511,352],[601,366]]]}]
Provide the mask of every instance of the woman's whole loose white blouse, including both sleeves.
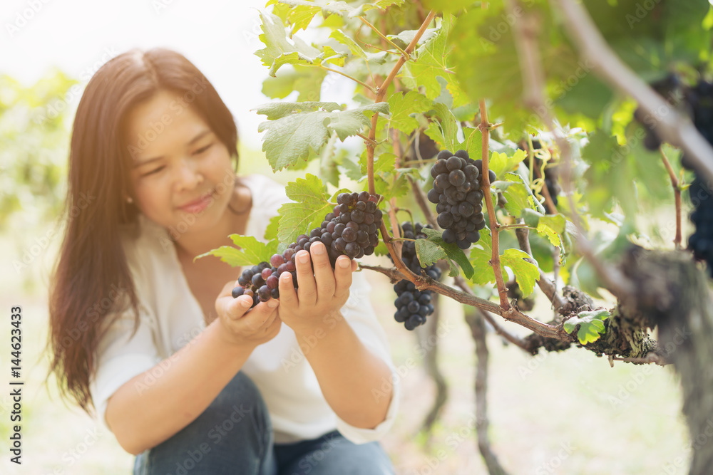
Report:
[{"label": "woman's whole loose white blouse, including both sleeves", "polygon": [[[289,200],[284,187],[270,178],[254,174],[243,181],[252,192],[253,203],[245,234],[264,241],[262,236],[270,218]],[[100,422],[107,430],[110,429],[104,417],[109,397],[125,382],[154,368],[205,329],[202,309],[183,275],[168,231],[140,214],[138,237],[123,237],[139,302],[140,323],[131,337],[134,315],[133,310],[126,310],[111,324],[98,345],[97,372],[90,378],[90,391]],[[369,302],[371,286],[363,273],[353,276],[349,300],[341,311],[361,343],[391,368],[391,381],[384,382],[393,387],[386,419],[374,429],[354,427],[340,419],[324,399],[294,332],[282,325],[277,336],[257,346],[242,367],[267,404],[276,443],[315,439],[338,429],[355,444],[364,444],[383,437],[394,423],[399,405],[399,375],[391,361],[384,329]],[[329,322],[325,323],[329,326]],[[161,372],[156,367],[151,374],[160,377]],[[382,390],[382,387],[374,390],[374,397],[383,394]]]}]

